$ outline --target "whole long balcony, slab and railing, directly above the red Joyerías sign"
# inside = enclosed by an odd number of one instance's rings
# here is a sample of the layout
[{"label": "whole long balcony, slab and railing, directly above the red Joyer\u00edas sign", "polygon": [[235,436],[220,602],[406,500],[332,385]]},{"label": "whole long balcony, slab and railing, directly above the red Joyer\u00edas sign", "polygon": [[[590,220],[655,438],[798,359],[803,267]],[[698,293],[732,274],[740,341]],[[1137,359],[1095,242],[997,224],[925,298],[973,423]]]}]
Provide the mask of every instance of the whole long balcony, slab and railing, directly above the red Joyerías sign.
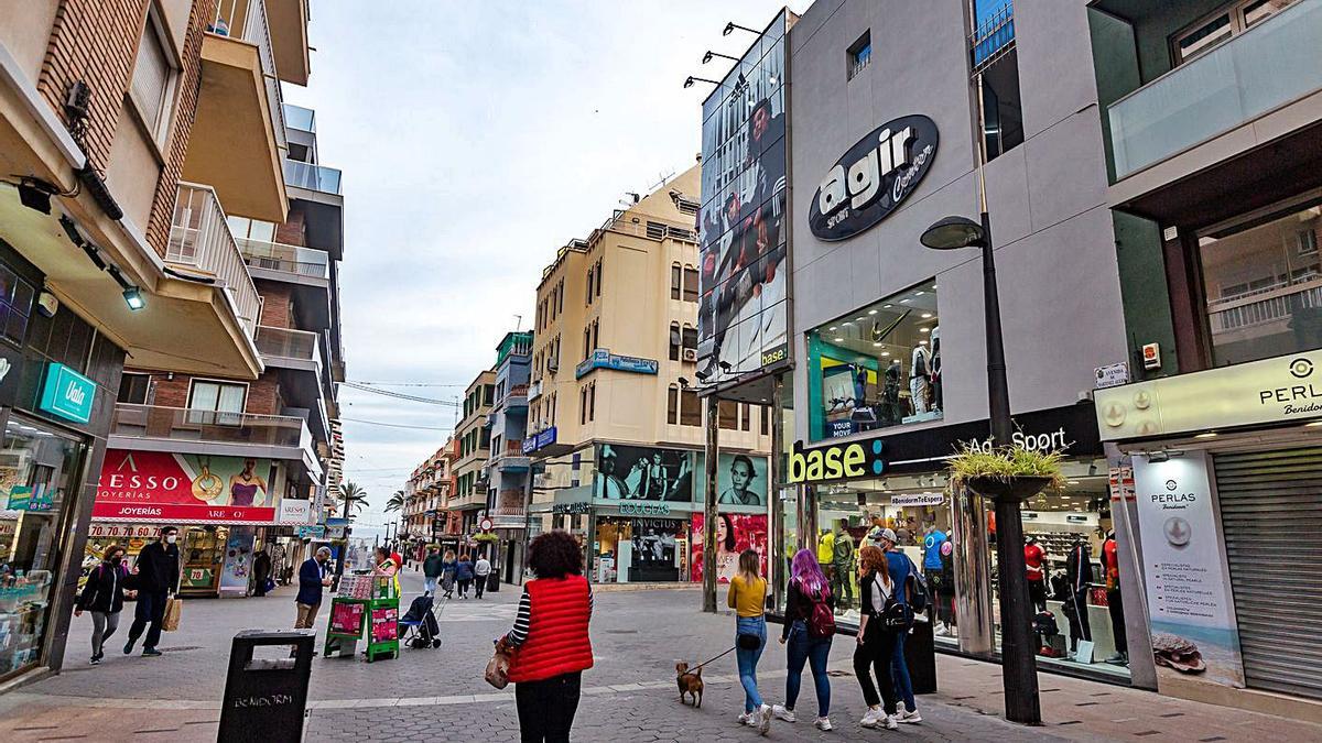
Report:
[{"label": "whole long balcony, slab and railing, directly above the red Joyer\u00edas sign", "polygon": [[116,403],[110,444],[123,450],[301,459],[317,473],[308,423],[295,415]]}]

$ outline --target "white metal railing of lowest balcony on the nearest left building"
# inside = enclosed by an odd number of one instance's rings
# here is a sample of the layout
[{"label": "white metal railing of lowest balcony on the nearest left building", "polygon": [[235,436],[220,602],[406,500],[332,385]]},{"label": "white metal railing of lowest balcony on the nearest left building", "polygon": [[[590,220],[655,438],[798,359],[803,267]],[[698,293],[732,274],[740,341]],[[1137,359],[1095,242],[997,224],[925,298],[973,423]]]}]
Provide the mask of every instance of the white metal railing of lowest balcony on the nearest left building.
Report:
[{"label": "white metal railing of lowest balcony on the nearest left building", "polygon": [[225,290],[249,336],[255,332],[262,297],[253,286],[225,210],[210,186],[180,182],[165,262],[214,276]]}]

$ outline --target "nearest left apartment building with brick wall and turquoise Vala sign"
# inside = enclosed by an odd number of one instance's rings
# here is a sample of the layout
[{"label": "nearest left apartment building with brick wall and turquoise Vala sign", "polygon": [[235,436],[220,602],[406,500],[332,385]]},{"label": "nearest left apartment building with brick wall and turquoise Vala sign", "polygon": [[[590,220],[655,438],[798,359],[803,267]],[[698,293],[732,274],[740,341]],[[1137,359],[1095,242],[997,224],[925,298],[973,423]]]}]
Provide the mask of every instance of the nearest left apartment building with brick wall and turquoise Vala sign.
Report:
[{"label": "nearest left apartment building with brick wall and turquoise Vala sign", "polygon": [[[264,369],[256,287],[204,227],[225,227],[217,194],[286,217],[274,59],[305,81],[307,3],[233,5],[42,0],[0,21],[0,561],[21,575],[3,588],[0,681],[62,662],[126,358],[245,381]],[[184,223],[176,205],[194,193],[209,221]],[[188,483],[180,496],[202,502]],[[153,530],[93,529],[89,543]]]}]

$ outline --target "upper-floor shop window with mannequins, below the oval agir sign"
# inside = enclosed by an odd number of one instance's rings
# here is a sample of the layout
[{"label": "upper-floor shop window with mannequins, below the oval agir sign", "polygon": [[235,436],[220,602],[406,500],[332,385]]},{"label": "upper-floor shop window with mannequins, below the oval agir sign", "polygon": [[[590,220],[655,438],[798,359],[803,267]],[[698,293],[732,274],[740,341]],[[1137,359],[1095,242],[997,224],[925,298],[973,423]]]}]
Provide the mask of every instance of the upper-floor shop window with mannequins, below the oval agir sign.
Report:
[{"label": "upper-floor shop window with mannequins, below the oval agir sign", "polygon": [[813,440],[943,418],[936,282],[808,333]]}]

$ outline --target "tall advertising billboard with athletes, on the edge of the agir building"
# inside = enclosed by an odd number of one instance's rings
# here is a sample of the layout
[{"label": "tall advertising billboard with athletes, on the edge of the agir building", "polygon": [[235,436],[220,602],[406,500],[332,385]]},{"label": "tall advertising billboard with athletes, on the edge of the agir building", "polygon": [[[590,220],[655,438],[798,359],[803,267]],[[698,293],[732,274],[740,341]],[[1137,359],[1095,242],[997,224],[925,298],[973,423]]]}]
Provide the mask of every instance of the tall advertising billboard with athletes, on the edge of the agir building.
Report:
[{"label": "tall advertising billboard with athletes, on the edge of the agir building", "polygon": [[702,104],[698,365],[709,381],[788,356],[788,22],[781,11]]}]

